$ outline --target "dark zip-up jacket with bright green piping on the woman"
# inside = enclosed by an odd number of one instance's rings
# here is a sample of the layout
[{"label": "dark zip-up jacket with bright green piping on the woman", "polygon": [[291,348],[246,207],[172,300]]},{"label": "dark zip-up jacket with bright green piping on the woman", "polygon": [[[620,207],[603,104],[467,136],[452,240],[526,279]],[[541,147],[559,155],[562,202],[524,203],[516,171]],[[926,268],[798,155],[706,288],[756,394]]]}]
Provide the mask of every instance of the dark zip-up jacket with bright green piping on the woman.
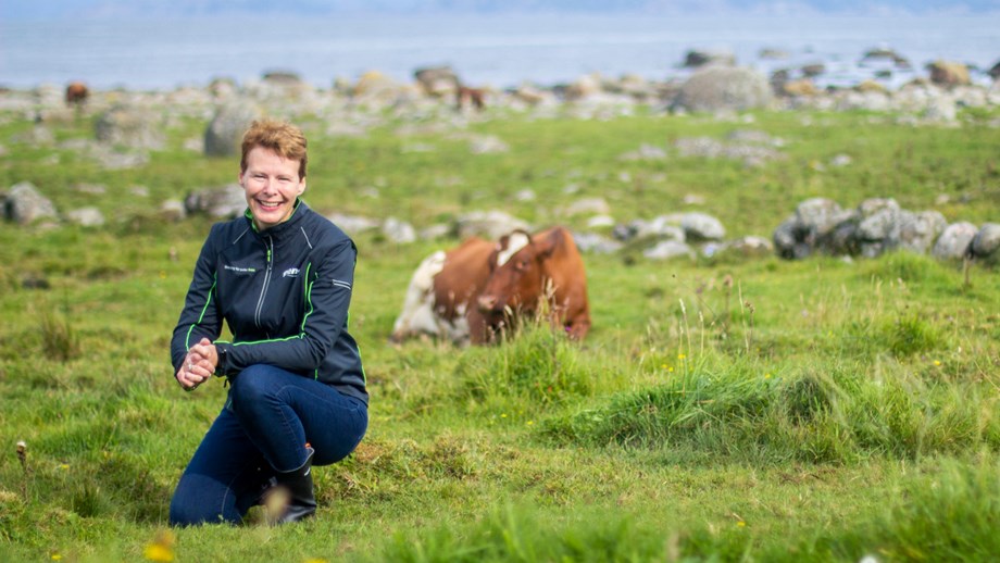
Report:
[{"label": "dark zip-up jacket with bright green piping on the woman", "polygon": [[[174,371],[207,337],[220,352],[216,375],[270,364],[367,403],[361,354],[347,330],[357,257],[354,242],[302,201],[288,221],[264,232],[249,210],[216,223],[174,328]],[[216,340],[223,320],[232,342]]]}]

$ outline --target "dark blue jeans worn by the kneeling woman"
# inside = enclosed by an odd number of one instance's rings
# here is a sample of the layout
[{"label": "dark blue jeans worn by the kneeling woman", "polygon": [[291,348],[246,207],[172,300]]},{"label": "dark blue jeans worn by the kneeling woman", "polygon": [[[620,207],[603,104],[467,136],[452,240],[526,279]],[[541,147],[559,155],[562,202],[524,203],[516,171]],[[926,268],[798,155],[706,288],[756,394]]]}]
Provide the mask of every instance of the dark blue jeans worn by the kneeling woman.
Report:
[{"label": "dark blue jeans worn by the kneeling woman", "polygon": [[238,524],[275,472],[305,463],[307,442],[316,452],[313,465],[329,465],[367,429],[362,400],[279,367],[251,365],[230,383],[226,406],[174,491],[171,525]]}]

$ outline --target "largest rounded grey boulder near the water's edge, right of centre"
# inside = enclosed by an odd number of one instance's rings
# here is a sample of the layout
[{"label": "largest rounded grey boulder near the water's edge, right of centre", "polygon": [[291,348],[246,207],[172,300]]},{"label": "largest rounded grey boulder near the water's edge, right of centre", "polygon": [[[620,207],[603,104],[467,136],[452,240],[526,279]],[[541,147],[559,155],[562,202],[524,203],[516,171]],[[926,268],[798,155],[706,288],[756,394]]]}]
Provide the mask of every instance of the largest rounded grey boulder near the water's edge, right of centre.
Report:
[{"label": "largest rounded grey boulder near the water's edge, right of centre", "polygon": [[676,104],[688,111],[741,111],[764,108],[771,101],[771,86],[760,73],[712,65],[696,72],[684,83]]}]

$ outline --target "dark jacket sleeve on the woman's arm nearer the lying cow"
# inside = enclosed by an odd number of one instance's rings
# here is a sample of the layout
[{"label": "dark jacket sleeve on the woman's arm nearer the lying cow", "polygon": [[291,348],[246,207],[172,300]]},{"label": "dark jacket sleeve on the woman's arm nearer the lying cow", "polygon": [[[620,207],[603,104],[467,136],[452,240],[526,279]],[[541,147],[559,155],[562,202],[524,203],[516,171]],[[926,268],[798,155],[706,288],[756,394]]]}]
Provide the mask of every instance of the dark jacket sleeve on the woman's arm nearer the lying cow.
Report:
[{"label": "dark jacket sleeve on the woman's arm nearer the lying cow", "polygon": [[253,364],[270,364],[315,376],[347,326],[357,257],[354,243],[346,240],[318,263],[307,264],[305,310],[297,335],[275,340],[216,341],[216,348],[225,355],[221,375],[233,375]]}]

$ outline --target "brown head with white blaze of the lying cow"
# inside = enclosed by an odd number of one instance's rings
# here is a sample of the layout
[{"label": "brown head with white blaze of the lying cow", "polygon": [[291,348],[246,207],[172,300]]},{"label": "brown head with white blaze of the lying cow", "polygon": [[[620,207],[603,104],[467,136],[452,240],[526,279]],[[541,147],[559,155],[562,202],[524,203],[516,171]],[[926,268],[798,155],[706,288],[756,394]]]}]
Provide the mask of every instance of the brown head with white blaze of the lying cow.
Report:
[{"label": "brown head with white blaze of the lying cow", "polygon": [[500,238],[489,257],[489,279],[477,303],[490,325],[504,314],[533,313],[537,309],[548,277],[546,260],[560,240],[554,232],[545,239],[532,240],[528,233],[520,229]]}]

